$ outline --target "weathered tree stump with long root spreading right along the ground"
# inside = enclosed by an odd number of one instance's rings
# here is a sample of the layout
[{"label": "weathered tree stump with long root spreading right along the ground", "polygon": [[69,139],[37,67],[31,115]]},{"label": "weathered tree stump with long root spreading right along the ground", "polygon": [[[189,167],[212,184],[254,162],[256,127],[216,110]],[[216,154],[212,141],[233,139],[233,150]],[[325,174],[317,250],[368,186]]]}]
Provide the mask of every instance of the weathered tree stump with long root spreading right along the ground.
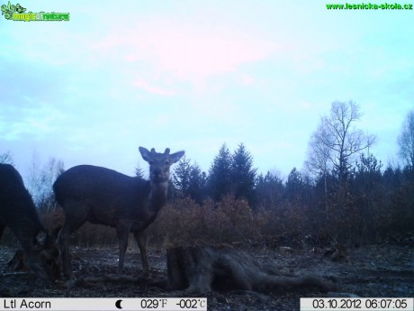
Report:
[{"label": "weathered tree stump with long root spreading right along the ground", "polygon": [[319,288],[328,291],[329,281],[320,277],[278,276],[261,268],[243,252],[230,246],[175,247],[166,251],[168,286],[188,294],[211,290],[275,291],[294,288]]}]

